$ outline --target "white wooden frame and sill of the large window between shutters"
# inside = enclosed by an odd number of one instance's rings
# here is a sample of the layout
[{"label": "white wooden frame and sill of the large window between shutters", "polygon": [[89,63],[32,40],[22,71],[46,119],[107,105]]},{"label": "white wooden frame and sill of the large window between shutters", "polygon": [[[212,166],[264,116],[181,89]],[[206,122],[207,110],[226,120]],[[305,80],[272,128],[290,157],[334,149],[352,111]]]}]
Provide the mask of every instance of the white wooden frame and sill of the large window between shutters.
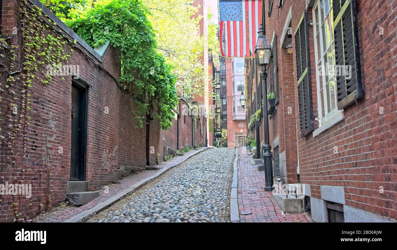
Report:
[{"label": "white wooden frame and sill of the large window between shutters", "polygon": [[[338,107],[337,107],[337,90],[336,90],[336,76],[335,76],[335,62],[334,62],[334,60],[335,60],[335,58],[334,58],[334,55],[335,55],[335,48],[334,48],[335,37],[334,36],[332,37],[330,45],[327,46],[327,48],[325,50],[324,49],[324,44],[323,44],[324,38],[322,38],[323,33],[320,32],[320,31],[322,31],[322,29],[324,28],[324,22],[325,22],[326,19],[321,19],[321,15],[318,17],[318,13],[321,11],[321,9],[320,9],[320,2],[321,1],[322,0],[317,0],[314,3],[313,8],[312,8],[312,10],[313,10],[312,11],[312,13],[313,13],[313,22],[314,22],[314,27],[313,27],[314,28],[313,29],[314,30],[314,57],[315,57],[314,60],[315,60],[315,64],[316,64],[316,82],[317,82],[317,100],[318,100],[318,118],[319,118],[318,121],[319,121],[319,126],[324,125],[327,121],[330,121],[335,115],[337,115],[339,112],[341,112],[341,111],[338,110]],[[331,12],[332,11],[332,0],[324,0],[324,4],[326,2],[330,2],[330,12]],[[316,7],[317,7],[317,12],[315,11]],[[318,20],[321,22],[320,25],[319,25],[320,30],[317,30],[317,23],[316,23],[317,17],[318,17]],[[324,15],[324,18],[326,18],[325,15]],[[317,34],[319,35],[320,44],[317,44],[317,38],[316,38]],[[318,50],[318,46],[320,46],[320,50]],[[327,95],[327,89],[326,89],[326,87],[327,87],[326,75],[328,75],[328,72],[325,72],[325,70],[323,70],[325,74],[320,74],[320,69],[318,67],[319,64],[322,65],[323,68],[326,65],[325,61],[324,61],[324,56],[328,53],[328,50],[330,48],[333,51],[333,54],[332,54],[332,57],[331,57],[332,58],[332,67],[333,67],[333,69],[331,70],[331,72],[334,73],[334,75],[332,77],[334,79],[333,82],[335,84],[335,86],[334,86],[335,99],[333,100],[335,108],[333,108],[332,110],[328,110],[328,106],[327,106],[328,99],[330,99],[330,96]],[[318,52],[317,51],[320,51],[320,53],[321,53],[320,60],[318,60],[319,56],[318,56]],[[327,71],[329,71],[328,68],[327,68]],[[321,94],[320,94],[320,90],[321,90],[320,77],[322,77],[322,81],[321,82],[322,82],[322,90],[323,90],[322,95],[323,95],[324,103],[321,101],[322,98],[321,98]],[[330,80],[328,80],[328,81],[330,82]],[[322,115],[323,106],[324,106],[324,116]]]}]

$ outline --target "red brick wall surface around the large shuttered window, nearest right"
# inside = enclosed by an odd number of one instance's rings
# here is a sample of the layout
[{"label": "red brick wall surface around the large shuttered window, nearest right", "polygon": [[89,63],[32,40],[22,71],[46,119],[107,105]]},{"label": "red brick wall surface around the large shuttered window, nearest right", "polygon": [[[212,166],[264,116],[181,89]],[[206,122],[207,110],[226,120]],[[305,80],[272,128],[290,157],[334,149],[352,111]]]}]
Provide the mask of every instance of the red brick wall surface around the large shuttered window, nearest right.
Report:
[{"label": "red brick wall surface around the large shuttered window, nearest right", "polygon": [[[293,3],[294,30],[305,8],[304,1],[285,2],[285,7]],[[358,107],[352,104],[345,108],[345,119],[317,137],[310,134],[302,138],[299,127],[297,131],[301,182],[311,185],[312,197],[321,198],[320,185],[343,186],[347,206],[392,218],[397,218],[396,6],[396,0],[357,1],[364,98],[358,101]],[[311,9],[309,13],[312,20]],[[384,29],[383,35],[380,28]],[[311,25],[309,29],[313,111],[318,117]],[[294,52],[294,72],[295,61]],[[296,106],[297,100],[295,88]]]}]

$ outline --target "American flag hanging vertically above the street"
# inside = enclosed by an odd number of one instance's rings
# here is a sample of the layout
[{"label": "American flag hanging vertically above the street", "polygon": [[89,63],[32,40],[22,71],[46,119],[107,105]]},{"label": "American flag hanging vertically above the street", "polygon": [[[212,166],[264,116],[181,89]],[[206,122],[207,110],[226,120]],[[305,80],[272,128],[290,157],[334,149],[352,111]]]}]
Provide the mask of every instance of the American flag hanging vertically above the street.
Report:
[{"label": "American flag hanging vertically above the street", "polygon": [[219,0],[219,14],[222,56],[252,57],[262,21],[262,2]]}]

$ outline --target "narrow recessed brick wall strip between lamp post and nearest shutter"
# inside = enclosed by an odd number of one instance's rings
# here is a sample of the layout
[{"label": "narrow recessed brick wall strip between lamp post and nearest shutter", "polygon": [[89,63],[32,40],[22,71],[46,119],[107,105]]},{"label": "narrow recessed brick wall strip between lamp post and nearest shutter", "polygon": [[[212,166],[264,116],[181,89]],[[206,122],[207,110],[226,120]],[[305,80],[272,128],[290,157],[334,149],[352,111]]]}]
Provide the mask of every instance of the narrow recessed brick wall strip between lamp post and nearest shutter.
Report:
[{"label": "narrow recessed brick wall strip between lamp post and nearest shutter", "polygon": [[[297,1],[294,2],[294,4]],[[304,5],[304,1],[303,2]],[[297,138],[296,138],[296,118],[295,118],[295,82],[293,55],[288,55],[285,48],[281,48],[280,38],[283,33],[285,21],[289,12],[291,2],[284,1],[283,6],[278,8],[273,5],[272,14],[266,18],[266,35],[269,42],[272,42],[274,33],[276,34],[277,58],[278,58],[278,104],[276,110],[269,119],[270,145],[273,148],[273,141],[279,137],[279,153],[285,151],[285,169],[287,173],[287,183],[297,183]],[[268,2],[265,1],[265,10],[268,10]],[[294,14],[293,14],[294,15]],[[298,14],[295,14],[298,16]],[[301,14],[299,14],[299,18]],[[314,52],[313,52],[314,53]],[[272,63],[271,63],[272,64]],[[273,87],[273,65],[268,71],[270,78],[271,91]],[[260,71],[258,70],[258,73]],[[260,124],[264,126],[263,121]],[[299,126],[298,126],[299,127]],[[264,135],[260,133],[261,140]],[[273,148],[274,149],[274,148]]]}]

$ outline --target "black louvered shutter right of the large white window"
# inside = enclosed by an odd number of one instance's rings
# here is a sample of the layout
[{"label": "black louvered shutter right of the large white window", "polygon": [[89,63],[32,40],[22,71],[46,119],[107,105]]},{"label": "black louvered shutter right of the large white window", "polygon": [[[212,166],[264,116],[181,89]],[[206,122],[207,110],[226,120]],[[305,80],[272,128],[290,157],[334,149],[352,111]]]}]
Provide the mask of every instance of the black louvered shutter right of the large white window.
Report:
[{"label": "black louvered shutter right of the large white window", "polygon": [[362,98],[356,0],[333,1],[338,109]]}]

